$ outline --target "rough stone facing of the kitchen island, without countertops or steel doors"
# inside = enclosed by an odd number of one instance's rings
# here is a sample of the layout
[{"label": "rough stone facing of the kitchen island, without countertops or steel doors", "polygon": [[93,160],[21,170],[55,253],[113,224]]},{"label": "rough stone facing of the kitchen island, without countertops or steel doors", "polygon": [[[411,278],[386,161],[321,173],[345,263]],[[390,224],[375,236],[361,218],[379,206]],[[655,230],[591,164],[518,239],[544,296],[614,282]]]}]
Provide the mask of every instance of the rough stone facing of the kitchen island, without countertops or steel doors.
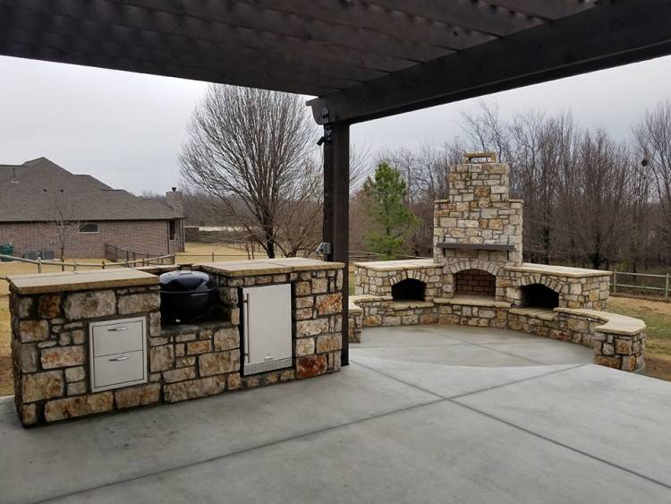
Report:
[{"label": "rough stone facing of the kitchen island, without countertops or steel doors", "polygon": [[[158,286],[11,295],[14,400],[21,423],[55,422],[115,409],[252,389],[340,369],[342,270],[220,276],[228,320],[161,328]],[[293,284],[292,368],[241,375],[242,286]],[[146,316],[147,384],[89,392],[91,321]]]}]

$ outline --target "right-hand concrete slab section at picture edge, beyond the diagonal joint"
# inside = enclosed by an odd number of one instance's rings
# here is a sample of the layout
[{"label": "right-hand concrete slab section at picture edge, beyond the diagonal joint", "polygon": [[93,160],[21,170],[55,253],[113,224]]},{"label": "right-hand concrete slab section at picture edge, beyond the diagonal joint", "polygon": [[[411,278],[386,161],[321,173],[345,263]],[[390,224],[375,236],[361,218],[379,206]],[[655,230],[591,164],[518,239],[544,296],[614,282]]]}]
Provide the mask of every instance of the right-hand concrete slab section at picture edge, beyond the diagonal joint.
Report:
[{"label": "right-hand concrete slab section at picture edge, beyond the diagonal joint", "polygon": [[590,364],[457,402],[671,486],[666,381]]}]

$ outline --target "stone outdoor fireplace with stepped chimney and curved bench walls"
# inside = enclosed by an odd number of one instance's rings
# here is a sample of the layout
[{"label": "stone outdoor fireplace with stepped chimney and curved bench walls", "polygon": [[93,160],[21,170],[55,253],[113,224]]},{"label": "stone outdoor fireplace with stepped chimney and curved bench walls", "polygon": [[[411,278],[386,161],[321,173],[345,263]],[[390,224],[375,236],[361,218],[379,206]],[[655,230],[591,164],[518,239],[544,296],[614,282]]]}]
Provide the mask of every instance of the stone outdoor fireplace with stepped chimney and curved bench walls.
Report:
[{"label": "stone outdoor fireplace with stepped chimney and curved bench walls", "polygon": [[434,203],[432,259],[354,264],[351,341],[366,326],[509,328],[593,346],[595,363],[641,370],[645,325],[602,312],[609,271],[522,262],[523,201],[509,186],[495,154],[452,167],[447,197]]}]

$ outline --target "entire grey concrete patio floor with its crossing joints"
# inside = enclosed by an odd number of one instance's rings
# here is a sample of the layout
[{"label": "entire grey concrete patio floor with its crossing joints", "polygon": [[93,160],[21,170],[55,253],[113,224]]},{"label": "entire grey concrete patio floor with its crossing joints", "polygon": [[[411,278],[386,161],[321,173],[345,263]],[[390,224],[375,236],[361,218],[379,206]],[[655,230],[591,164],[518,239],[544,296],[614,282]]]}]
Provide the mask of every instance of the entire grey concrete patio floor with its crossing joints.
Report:
[{"label": "entire grey concrete patio floor with its crossing joints", "polygon": [[445,329],[386,329],[395,346],[314,380],[29,430],[5,397],[0,502],[671,501],[671,384]]}]

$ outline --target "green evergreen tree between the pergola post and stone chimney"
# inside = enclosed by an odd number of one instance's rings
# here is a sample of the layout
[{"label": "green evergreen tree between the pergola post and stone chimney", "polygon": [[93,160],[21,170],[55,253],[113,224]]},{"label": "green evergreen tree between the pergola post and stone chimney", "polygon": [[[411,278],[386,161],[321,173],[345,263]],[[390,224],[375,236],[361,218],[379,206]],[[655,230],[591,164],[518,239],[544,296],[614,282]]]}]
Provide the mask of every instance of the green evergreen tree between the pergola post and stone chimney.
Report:
[{"label": "green evergreen tree between the pergola post and stone chimney", "polygon": [[407,186],[398,171],[380,163],[363,191],[369,201],[367,213],[378,225],[378,229],[366,235],[369,249],[391,259],[403,250],[403,243],[417,223],[405,204]]}]

